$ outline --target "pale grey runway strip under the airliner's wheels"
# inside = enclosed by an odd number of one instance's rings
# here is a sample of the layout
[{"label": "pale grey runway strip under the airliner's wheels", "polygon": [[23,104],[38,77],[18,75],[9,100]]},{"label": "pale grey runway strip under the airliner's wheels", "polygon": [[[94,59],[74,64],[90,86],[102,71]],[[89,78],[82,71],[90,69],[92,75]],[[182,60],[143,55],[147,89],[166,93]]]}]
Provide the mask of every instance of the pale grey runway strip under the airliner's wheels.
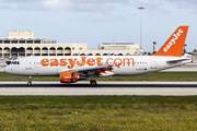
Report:
[{"label": "pale grey runway strip under the airliner's wheels", "polygon": [[197,82],[0,82],[0,95],[197,95]]}]

